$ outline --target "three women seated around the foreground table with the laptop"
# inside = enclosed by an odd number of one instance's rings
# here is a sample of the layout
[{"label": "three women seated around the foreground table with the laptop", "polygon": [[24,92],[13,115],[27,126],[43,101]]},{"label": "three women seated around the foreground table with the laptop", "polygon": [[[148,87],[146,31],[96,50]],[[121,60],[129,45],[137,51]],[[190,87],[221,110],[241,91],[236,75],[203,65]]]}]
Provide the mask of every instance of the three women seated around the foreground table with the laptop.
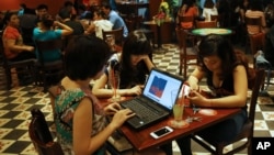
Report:
[{"label": "three women seated around the foreground table with the laptop", "polygon": [[[112,55],[104,41],[90,35],[80,35],[68,45],[64,57],[66,77],[50,90],[57,139],[64,152],[105,152],[104,143],[107,137],[135,115],[129,109],[122,109],[117,102],[111,102],[106,107],[100,103],[98,98],[113,96],[113,91],[106,87],[110,69],[115,66],[119,70],[121,85],[117,93],[122,97],[138,96],[142,91],[146,76],[151,68],[157,67],[151,53],[150,43],[139,31],[129,33],[119,54]],[[203,38],[198,54],[201,64],[187,80],[193,93],[190,101],[197,107],[242,109],[233,118],[201,131],[199,134],[212,136],[217,142],[229,142],[247,121],[248,62],[243,53],[236,53],[229,41],[215,34]],[[199,93],[198,82],[204,77],[215,92],[215,98],[207,99]],[[91,80],[94,80],[92,88]],[[112,118],[109,123],[106,115]],[[192,154],[190,137],[182,137],[176,142],[182,154]],[[135,152],[151,153],[172,155],[172,144]]]}]

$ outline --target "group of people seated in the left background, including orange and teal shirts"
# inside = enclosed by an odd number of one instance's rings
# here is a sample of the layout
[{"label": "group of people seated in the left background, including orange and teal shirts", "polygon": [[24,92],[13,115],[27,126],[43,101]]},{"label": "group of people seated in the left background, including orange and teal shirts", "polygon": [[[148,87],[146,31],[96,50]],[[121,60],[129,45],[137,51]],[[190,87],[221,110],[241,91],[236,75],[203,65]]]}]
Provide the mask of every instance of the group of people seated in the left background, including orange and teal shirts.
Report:
[{"label": "group of people seated in the left background, including orange and teal shirts", "polygon": [[[103,2],[102,8],[93,10],[92,16],[89,19],[91,22],[87,29],[84,29],[83,22],[78,19],[78,15],[73,11],[72,2],[70,1],[65,2],[64,8],[60,9],[56,16],[48,13],[48,7],[46,4],[39,4],[37,7],[36,15],[27,11],[24,4],[22,4],[22,7],[24,11],[7,11],[2,14],[3,18],[1,16],[4,25],[1,31],[1,37],[5,57],[10,62],[38,58],[35,41],[50,41],[56,38],[67,41],[66,38],[69,36],[82,34],[95,35],[103,38],[102,30],[111,31],[119,27],[124,30],[124,37],[128,35],[125,22],[117,12],[111,10],[109,2]],[[25,27],[27,27],[27,33]],[[26,37],[31,38],[31,43],[26,42]],[[68,44],[68,42],[64,43]],[[56,49],[44,56],[44,60],[54,62],[61,59],[61,49]],[[24,77],[19,75],[19,80],[24,80]]]}]

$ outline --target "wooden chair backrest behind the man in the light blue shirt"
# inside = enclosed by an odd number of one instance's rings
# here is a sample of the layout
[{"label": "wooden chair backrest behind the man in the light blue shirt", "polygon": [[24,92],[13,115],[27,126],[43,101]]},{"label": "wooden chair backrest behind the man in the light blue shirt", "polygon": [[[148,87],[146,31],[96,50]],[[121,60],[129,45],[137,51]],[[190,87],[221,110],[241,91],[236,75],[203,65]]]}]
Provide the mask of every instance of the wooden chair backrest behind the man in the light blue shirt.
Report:
[{"label": "wooden chair backrest behind the man in the light blue shirt", "polygon": [[124,32],[124,27],[119,27],[119,29],[112,30],[112,31],[104,31],[104,30],[102,30],[103,40],[107,42],[107,37],[109,36],[114,36],[115,37],[114,38],[115,40],[115,44],[119,45],[119,46],[123,46],[123,43],[124,43],[123,32]]}]

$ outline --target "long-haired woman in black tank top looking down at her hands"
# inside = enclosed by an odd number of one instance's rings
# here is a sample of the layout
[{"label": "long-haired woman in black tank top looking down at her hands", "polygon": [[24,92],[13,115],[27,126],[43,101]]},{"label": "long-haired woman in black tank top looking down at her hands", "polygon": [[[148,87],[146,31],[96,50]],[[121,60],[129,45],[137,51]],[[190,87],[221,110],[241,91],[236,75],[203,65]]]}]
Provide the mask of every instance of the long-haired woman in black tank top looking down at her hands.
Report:
[{"label": "long-haired woman in black tank top looking down at her hands", "polygon": [[[201,108],[241,108],[235,117],[196,134],[215,143],[230,142],[242,130],[247,115],[248,62],[243,53],[235,51],[225,37],[210,34],[198,45],[198,66],[189,77],[192,89],[190,102]],[[230,64],[230,65],[227,65]],[[201,93],[198,82],[206,78],[213,98]],[[191,139],[176,141],[183,155],[191,155]]]}]

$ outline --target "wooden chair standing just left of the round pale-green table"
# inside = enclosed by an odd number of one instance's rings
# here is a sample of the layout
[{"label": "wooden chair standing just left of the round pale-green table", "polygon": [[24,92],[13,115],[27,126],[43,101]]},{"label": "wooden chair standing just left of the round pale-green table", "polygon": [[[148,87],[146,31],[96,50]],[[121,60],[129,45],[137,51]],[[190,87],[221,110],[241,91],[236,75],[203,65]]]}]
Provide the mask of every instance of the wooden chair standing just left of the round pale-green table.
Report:
[{"label": "wooden chair standing just left of the round pale-green table", "polygon": [[176,27],[176,37],[179,42],[179,48],[180,48],[180,70],[179,74],[182,75],[182,69],[184,78],[186,78],[187,74],[187,66],[189,65],[196,65],[197,62],[195,63],[190,63],[192,59],[197,59],[197,52],[195,51],[194,47],[187,47],[186,45],[186,37],[187,34],[185,30]]}]

